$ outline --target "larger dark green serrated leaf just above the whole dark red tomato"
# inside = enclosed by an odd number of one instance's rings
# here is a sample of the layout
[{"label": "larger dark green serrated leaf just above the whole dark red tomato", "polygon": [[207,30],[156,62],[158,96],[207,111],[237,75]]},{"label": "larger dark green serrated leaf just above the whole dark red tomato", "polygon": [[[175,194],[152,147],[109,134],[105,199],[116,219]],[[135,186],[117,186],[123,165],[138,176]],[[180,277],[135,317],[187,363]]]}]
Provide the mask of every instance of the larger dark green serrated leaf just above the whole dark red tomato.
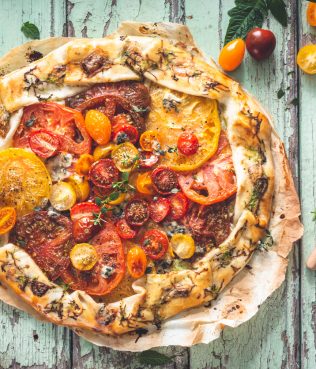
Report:
[{"label": "larger dark green serrated leaf just above the whole dark red tomato", "polygon": [[268,15],[264,0],[235,0],[235,7],[228,11],[230,16],[225,44],[236,38],[245,38],[254,27],[262,27]]}]

